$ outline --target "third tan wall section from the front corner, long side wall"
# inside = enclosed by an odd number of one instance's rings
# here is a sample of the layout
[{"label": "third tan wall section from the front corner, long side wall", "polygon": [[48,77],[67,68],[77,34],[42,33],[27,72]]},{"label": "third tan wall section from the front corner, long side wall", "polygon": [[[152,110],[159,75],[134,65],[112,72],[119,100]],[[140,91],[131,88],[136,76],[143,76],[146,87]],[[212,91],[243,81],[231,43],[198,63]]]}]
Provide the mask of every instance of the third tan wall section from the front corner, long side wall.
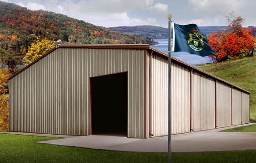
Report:
[{"label": "third tan wall section from the front corner, long side wall", "polygon": [[217,82],[216,126],[231,126],[231,87]]}]

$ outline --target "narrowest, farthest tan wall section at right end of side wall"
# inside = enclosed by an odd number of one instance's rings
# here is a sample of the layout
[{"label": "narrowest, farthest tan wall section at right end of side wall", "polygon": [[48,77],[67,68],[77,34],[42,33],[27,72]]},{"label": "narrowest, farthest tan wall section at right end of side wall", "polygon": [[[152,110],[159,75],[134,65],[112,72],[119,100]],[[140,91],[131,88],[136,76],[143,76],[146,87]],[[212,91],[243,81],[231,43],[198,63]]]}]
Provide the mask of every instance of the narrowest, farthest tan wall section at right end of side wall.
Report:
[{"label": "narrowest, farthest tan wall section at right end of side wall", "polygon": [[242,123],[250,123],[250,95],[242,92]]}]

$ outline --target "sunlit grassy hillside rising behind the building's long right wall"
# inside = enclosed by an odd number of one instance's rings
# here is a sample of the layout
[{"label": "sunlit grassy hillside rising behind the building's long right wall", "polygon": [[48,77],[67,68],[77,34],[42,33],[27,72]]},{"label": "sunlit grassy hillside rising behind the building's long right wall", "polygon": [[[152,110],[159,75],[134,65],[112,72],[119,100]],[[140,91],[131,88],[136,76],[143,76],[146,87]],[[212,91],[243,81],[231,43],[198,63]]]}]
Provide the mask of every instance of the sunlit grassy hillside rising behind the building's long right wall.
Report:
[{"label": "sunlit grassy hillside rising behind the building's long right wall", "polygon": [[197,67],[250,91],[250,117],[256,123],[256,56]]}]

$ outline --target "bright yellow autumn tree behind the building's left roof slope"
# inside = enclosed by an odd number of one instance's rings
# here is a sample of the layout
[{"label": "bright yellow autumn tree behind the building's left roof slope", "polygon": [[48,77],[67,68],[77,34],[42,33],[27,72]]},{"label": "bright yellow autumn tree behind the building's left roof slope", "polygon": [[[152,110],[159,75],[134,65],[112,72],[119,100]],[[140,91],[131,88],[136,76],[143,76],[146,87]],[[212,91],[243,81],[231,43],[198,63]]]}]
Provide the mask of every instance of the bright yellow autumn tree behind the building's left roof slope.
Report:
[{"label": "bright yellow autumn tree behind the building's left roof slope", "polygon": [[46,38],[41,40],[37,37],[36,42],[31,43],[30,47],[28,47],[28,52],[23,59],[27,60],[26,64],[32,63],[34,60],[52,49],[56,43],[57,42],[49,41]]}]

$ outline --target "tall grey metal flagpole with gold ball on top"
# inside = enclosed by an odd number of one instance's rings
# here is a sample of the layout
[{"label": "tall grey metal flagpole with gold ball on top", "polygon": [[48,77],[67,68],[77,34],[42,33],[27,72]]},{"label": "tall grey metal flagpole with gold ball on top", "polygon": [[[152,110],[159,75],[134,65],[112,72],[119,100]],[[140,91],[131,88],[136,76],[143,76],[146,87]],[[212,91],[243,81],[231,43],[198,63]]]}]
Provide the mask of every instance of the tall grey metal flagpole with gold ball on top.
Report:
[{"label": "tall grey metal flagpole with gold ball on top", "polygon": [[168,19],[168,163],[171,163],[171,14]]}]

